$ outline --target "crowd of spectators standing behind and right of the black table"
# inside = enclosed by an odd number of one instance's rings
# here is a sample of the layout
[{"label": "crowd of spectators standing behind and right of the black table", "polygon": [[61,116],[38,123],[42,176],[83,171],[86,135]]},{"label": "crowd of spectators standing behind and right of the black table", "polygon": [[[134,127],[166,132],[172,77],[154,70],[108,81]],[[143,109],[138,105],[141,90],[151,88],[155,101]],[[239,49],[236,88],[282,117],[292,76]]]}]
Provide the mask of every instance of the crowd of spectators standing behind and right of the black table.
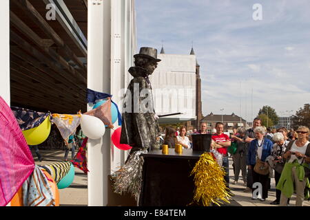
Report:
[{"label": "crowd of spectators standing behind and right of the black table", "polygon": [[[229,157],[233,159],[234,181],[238,184],[241,172],[244,192],[251,192],[251,199],[264,202],[271,189],[271,178],[276,181],[276,199],[272,205],[288,206],[290,197],[296,192],[296,206],[302,206],[304,199],[309,199],[310,188],[310,142],[309,128],[299,126],[296,131],[285,127],[269,129],[262,126],[260,118],[255,118],[250,129],[234,129],[234,133],[223,133],[223,123],[217,122],[211,132],[207,131],[207,123],[187,131],[186,126],[165,128],[164,144],[174,148],[182,144],[183,148],[192,148],[192,134],[211,133],[211,148],[223,155],[223,169],[227,190],[229,189]],[[236,151],[229,154],[227,148],[235,143]],[[257,184],[261,193],[254,195]],[[233,194],[232,194],[233,195]],[[306,196],[306,197],[305,197]]]}]

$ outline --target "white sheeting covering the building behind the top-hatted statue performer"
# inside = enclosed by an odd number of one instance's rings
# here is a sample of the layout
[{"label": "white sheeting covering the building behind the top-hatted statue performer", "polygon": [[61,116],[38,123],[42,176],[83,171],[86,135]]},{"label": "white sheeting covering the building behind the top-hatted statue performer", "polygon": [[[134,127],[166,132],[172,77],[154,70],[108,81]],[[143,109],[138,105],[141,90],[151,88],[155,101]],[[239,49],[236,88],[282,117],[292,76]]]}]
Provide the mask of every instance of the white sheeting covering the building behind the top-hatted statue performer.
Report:
[{"label": "white sheeting covering the building behind the top-hatted statue performer", "polygon": [[196,56],[158,54],[158,58],[161,62],[150,77],[156,114],[182,112],[169,118],[195,118]]}]

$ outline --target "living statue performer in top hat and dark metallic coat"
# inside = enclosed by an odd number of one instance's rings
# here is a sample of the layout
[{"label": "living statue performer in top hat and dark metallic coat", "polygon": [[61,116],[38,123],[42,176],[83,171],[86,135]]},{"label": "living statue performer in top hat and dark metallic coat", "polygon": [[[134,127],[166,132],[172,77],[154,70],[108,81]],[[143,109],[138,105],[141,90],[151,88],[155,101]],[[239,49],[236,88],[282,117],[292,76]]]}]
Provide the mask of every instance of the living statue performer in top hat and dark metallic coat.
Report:
[{"label": "living statue performer in top hat and dark metallic coat", "polygon": [[154,148],[160,135],[149,82],[149,75],[154,72],[159,61],[156,49],[141,47],[139,54],[134,55],[135,67],[128,70],[134,78],[124,97],[121,144],[132,146],[130,155],[139,150]]}]

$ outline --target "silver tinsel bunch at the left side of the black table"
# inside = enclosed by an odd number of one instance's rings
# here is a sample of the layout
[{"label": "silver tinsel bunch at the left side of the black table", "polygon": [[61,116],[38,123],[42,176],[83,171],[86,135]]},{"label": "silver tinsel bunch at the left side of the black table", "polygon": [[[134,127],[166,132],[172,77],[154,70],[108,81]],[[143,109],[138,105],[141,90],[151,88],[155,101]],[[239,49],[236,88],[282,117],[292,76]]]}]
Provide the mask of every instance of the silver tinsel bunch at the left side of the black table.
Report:
[{"label": "silver tinsel bunch at the left side of the black table", "polygon": [[147,150],[140,150],[129,155],[129,159],[119,170],[117,170],[112,179],[114,179],[114,192],[123,194],[124,192],[132,194],[138,201],[141,192],[142,169],[144,159],[141,153],[147,153]]}]

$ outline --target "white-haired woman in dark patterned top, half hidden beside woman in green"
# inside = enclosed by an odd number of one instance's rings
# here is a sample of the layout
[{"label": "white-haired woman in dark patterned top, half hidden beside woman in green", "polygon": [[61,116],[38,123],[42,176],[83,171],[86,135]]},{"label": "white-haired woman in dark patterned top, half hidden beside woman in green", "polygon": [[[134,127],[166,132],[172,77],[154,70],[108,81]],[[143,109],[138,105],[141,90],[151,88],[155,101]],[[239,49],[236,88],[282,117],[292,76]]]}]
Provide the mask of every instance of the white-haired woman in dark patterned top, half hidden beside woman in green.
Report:
[{"label": "white-haired woman in dark patterned top, half hidden beside woman in green", "polygon": [[[288,140],[285,140],[285,135],[282,132],[278,132],[273,134],[273,148],[271,152],[272,164],[274,169],[274,179],[276,181],[276,186],[279,182],[281,177],[281,173],[284,167],[283,162],[283,153],[285,153],[287,144],[289,144]],[[271,202],[271,205],[278,205],[280,204],[280,196],[281,191],[276,189],[276,200]]]}]

